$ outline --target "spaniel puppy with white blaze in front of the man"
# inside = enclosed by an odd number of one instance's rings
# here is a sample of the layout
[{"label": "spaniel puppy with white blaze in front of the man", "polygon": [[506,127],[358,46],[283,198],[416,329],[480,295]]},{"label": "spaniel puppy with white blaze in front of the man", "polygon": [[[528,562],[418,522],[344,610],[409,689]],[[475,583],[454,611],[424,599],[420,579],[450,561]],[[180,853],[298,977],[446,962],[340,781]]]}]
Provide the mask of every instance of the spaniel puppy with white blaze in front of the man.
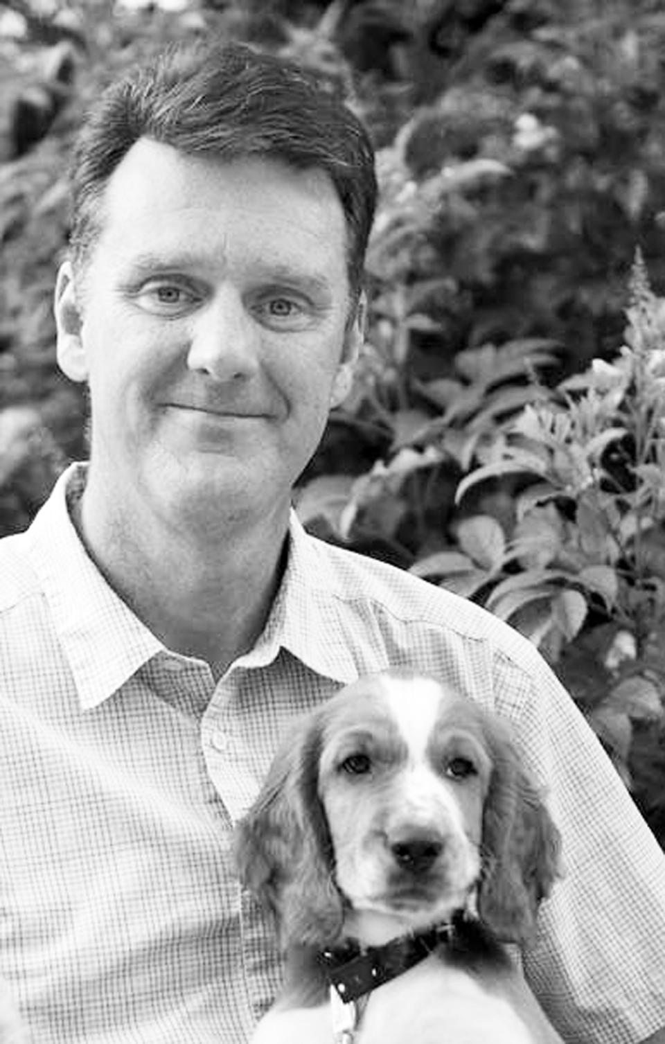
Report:
[{"label": "spaniel puppy with white blaze in front of the man", "polygon": [[505,725],[376,674],[303,719],[239,825],[282,996],[254,1044],[555,1044],[501,945],[532,932],[559,834]]}]

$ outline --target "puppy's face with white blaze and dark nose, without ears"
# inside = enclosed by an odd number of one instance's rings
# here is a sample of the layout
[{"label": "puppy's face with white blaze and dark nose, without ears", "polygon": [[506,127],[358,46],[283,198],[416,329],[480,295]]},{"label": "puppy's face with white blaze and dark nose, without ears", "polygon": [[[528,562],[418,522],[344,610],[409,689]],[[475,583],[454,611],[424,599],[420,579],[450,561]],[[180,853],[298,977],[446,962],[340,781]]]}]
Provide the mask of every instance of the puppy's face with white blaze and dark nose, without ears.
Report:
[{"label": "puppy's face with white blaze and dark nose, without ears", "polygon": [[431,679],[370,677],[329,703],[322,739],[318,794],[353,909],[418,928],[464,907],[492,773],[470,702]]}]

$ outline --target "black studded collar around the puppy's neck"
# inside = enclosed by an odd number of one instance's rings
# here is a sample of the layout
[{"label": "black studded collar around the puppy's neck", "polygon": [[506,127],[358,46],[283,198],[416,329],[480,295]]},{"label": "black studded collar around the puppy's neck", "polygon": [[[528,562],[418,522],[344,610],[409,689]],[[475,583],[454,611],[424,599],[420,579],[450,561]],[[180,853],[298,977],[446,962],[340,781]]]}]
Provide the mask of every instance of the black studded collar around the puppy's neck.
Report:
[{"label": "black studded collar around the puppy's neck", "polygon": [[317,960],[339,999],[350,1003],[413,968],[442,944],[449,944],[455,930],[453,921],[427,931],[400,935],[385,946],[363,949],[352,940],[343,947],[322,950]]}]

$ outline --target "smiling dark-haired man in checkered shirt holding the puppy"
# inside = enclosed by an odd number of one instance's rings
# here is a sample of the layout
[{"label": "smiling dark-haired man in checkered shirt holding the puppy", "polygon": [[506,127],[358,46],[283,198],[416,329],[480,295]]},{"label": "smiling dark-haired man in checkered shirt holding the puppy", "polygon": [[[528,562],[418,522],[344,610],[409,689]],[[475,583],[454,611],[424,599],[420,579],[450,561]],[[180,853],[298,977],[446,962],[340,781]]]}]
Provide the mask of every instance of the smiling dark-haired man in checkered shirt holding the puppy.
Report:
[{"label": "smiling dark-haired man in checkered shirt holding the puppy", "polygon": [[282,730],[386,666],[510,718],[549,790],[567,875],[523,960],[560,1033],[665,1041],[665,860],[572,701],[477,607],[290,514],[375,191],[355,117],[239,46],[135,70],[82,130],[55,312],[90,465],[0,546],[0,975],[40,1044],[248,1039],[279,964],[234,824]]}]

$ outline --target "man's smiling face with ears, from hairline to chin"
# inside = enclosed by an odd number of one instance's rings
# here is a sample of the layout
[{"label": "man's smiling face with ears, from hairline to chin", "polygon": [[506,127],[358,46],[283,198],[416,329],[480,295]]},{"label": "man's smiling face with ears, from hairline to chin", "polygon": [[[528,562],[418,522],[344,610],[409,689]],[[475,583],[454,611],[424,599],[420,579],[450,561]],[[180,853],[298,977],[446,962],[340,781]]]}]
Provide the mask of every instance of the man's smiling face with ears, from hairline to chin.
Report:
[{"label": "man's smiling face with ears, from hairline to chin", "polygon": [[56,290],[61,366],[90,386],[90,496],[284,509],[360,340],[332,182],[142,139],[101,208]]}]

